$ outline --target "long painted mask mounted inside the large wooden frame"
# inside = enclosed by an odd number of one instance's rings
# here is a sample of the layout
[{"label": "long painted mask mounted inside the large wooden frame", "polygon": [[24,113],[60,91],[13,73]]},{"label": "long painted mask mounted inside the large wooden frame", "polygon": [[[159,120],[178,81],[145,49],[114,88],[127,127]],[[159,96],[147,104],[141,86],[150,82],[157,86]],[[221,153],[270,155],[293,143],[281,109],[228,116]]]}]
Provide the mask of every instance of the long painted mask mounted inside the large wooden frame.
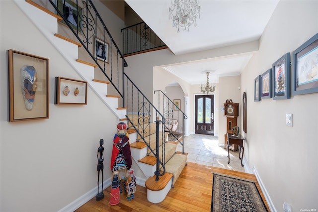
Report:
[{"label": "long painted mask mounted inside the large wooden frame", "polygon": [[24,105],[27,110],[33,108],[35,92],[37,88],[37,73],[33,66],[21,68],[21,89]]}]

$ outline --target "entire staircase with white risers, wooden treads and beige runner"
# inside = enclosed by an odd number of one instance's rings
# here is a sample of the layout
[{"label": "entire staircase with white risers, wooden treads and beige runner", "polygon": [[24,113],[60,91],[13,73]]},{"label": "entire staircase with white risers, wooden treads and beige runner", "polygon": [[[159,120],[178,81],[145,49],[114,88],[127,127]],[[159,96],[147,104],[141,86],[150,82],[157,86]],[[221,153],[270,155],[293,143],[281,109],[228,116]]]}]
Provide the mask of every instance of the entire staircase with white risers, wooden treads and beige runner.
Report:
[{"label": "entire staircase with white risers, wooden treads and beige runner", "polygon": [[[168,133],[160,132],[159,158],[165,158],[167,163],[165,164],[166,173],[159,177],[159,181],[156,181],[156,176],[154,173],[156,171],[157,160],[154,156],[154,153],[150,151],[147,146],[148,144],[152,149],[156,149],[155,123],[149,123],[149,128],[146,130],[143,128],[143,131],[147,131],[147,133],[143,133],[144,138],[142,138],[138,133],[141,129],[140,126],[135,126],[137,128],[136,130],[131,124],[129,124],[128,118],[126,116],[127,108],[118,107],[118,99],[120,97],[107,94],[107,85],[110,83],[94,79],[94,68],[97,66],[83,60],[74,59],[74,55],[78,54],[78,48],[81,46],[81,44],[58,34],[57,24],[58,21],[61,20],[61,17],[57,16],[53,12],[50,12],[46,8],[39,6],[31,0],[25,1],[33,5],[32,8],[29,6],[30,4],[22,1],[17,3],[20,9],[24,11],[27,16],[29,16],[29,18],[38,26],[40,31],[48,38],[48,40],[50,40],[51,43],[55,45],[55,47],[61,52],[61,54],[64,55],[74,69],[77,70],[82,79],[87,81],[89,87],[117,115],[118,120],[128,124],[129,129],[127,130],[127,133],[130,135],[132,158],[147,178],[145,186],[148,191],[148,200],[152,203],[159,203],[163,201],[179,177],[182,169],[186,165],[187,156],[185,154],[177,154],[176,144],[166,142]],[[42,19],[42,17],[44,18]],[[67,48],[65,45],[71,46],[71,48]],[[162,148],[164,148],[163,154]],[[168,158],[169,160],[167,160]],[[161,170],[163,171],[162,167]]]}]

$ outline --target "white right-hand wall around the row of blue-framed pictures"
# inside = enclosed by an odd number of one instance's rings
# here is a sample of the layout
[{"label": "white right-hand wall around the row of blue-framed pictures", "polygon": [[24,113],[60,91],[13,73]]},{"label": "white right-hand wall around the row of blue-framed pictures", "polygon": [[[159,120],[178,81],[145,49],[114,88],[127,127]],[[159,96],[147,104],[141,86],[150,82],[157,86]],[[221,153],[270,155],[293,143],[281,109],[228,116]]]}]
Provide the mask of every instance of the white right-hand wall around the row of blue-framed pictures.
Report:
[{"label": "white right-hand wall around the row of blue-framed pictures", "polygon": [[[318,94],[254,102],[254,79],[317,32],[318,1],[280,1],[260,39],[259,53],[241,74],[240,95],[247,94],[246,156],[279,212],[284,202],[293,212],[318,209],[318,114],[310,109],[317,108]],[[286,125],[286,113],[294,114],[293,127]]]}]

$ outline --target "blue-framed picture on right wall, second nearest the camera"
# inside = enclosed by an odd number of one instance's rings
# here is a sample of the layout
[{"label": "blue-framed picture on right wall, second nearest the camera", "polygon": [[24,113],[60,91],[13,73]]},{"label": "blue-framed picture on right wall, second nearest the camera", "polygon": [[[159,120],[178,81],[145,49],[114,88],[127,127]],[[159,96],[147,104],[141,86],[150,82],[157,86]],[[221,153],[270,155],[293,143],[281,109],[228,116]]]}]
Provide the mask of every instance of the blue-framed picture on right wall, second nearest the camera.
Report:
[{"label": "blue-framed picture on right wall, second nearest the camera", "polygon": [[273,100],[290,99],[290,53],[273,63]]}]

